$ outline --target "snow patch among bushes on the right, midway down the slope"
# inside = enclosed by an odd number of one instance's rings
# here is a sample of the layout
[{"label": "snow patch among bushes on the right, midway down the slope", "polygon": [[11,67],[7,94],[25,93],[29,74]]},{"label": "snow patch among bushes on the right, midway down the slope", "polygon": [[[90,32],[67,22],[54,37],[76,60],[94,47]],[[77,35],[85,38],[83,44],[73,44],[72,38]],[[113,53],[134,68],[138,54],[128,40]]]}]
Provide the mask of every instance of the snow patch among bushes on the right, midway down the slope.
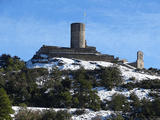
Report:
[{"label": "snow patch among bushes on the right, midway down the slope", "polygon": [[152,99],[151,97],[149,97],[150,89],[134,88],[133,90],[127,90],[127,89],[123,89],[123,90],[119,89],[118,90],[118,89],[114,88],[112,90],[107,90],[104,87],[96,87],[96,88],[94,88],[94,90],[97,90],[97,92],[98,92],[97,94],[102,101],[105,99],[111,101],[112,96],[115,93],[122,94],[126,97],[129,97],[131,93],[135,93],[140,100],[142,100],[143,98],[146,98],[149,100]]}]

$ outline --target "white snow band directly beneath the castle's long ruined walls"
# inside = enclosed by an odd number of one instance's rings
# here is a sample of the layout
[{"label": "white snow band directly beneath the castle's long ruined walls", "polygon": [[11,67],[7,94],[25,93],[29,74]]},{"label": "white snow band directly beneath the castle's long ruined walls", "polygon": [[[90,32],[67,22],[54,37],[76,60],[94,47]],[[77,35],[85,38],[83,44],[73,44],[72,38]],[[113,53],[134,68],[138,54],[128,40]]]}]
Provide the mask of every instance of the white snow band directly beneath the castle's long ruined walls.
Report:
[{"label": "white snow band directly beneath the castle's long ruined walls", "polygon": [[[54,60],[58,60],[53,62]],[[46,59],[45,59],[46,60]],[[43,59],[38,59],[38,61],[42,61]],[[58,65],[58,63],[62,63],[63,65]],[[27,62],[27,67],[32,69],[32,68],[47,68],[51,70],[53,67],[58,67],[60,70],[78,70],[81,67],[83,67],[86,70],[94,70],[98,69],[99,65],[108,67],[113,65],[112,63],[109,62],[103,62],[103,61],[84,61],[84,60],[73,60],[69,58],[52,58],[48,61],[48,63],[32,63],[31,60]]]}]

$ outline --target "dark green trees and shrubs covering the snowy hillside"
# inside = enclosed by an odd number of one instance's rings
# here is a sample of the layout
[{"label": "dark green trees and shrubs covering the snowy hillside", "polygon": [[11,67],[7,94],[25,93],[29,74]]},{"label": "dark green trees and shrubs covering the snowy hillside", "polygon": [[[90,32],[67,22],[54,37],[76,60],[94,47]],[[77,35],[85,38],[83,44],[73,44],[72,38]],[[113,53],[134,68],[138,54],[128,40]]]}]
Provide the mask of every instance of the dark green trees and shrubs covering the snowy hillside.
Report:
[{"label": "dark green trees and shrubs covering the snowy hillside", "polygon": [[[73,113],[77,115],[84,114],[83,109],[89,108],[95,111],[100,109],[121,111],[123,116],[126,116],[126,118],[121,115],[117,116],[115,120],[152,119],[160,116],[160,98],[156,93],[150,93],[156,98],[153,101],[139,100],[133,93],[128,98],[115,94],[111,101],[102,102],[97,92],[93,90],[94,87],[99,86],[107,89],[120,86],[127,89],[144,88],[158,91],[160,88],[158,79],[122,85],[122,74],[116,66],[94,71],[83,68],[77,71],[59,71],[55,68],[48,72],[47,69],[42,68],[27,69],[25,62],[18,57],[2,55],[0,60],[0,119],[11,119],[10,114],[13,113],[13,110],[9,98],[13,105],[82,108]],[[136,81],[134,77],[130,80]],[[6,90],[9,98],[2,88]],[[16,120],[69,120],[70,118],[71,115],[67,111],[35,112],[27,109],[20,110],[15,116]]]}]

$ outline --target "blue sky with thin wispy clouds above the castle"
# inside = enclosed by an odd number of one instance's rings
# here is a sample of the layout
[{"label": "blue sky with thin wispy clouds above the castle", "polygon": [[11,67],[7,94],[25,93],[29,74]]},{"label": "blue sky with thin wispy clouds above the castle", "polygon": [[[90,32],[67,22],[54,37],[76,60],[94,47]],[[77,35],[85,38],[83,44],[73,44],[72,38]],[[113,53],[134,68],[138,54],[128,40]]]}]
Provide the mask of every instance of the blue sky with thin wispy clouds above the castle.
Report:
[{"label": "blue sky with thin wispy clouds above the castle", "polygon": [[141,50],[145,67],[160,68],[160,0],[0,0],[0,54],[26,61],[43,44],[69,47],[72,22],[98,51],[132,62]]}]

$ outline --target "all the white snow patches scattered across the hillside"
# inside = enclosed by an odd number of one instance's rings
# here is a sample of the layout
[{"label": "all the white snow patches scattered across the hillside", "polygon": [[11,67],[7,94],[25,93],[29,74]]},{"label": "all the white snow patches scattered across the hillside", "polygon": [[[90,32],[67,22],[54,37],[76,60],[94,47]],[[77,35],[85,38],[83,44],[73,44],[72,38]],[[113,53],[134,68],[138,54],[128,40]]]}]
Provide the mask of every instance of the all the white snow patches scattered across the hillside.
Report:
[{"label": "all the white snow patches scattered across the hillside", "polygon": [[[81,67],[83,67],[86,70],[94,70],[94,69],[99,69],[99,66],[103,66],[103,67],[109,67],[109,66],[113,66],[113,63],[110,62],[104,62],[104,61],[84,61],[84,60],[76,60],[76,59],[68,59],[68,58],[51,58],[48,59],[48,56],[46,55],[41,55],[41,57],[43,59],[39,59],[37,63],[32,63],[31,60],[29,60],[27,62],[27,67],[32,69],[32,68],[47,68],[49,71],[53,69],[53,67],[57,67],[59,70],[78,70]],[[46,62],[48,60],[48,63],[43,63]],[[122,65],[117,65],[121,72],[122,72],[122,76],[124,78],[124,83],[127,82],[139,82],[142,80],[148,80],[148,79],[160,79],[160,76],[153,76],[153,75],[148,75],[145,73],[139,73],[139,72],[135,72],[135,68],[128,66],[122,66]],[[130,78],[134,77],[135,81],[130,80]],[[41,83],[43,84],[43,83]],[[46,93],[49,91],[50,89],[48,89],[46,91]],[[96,87],[94,88],[94,90],[97,90],[97,95],[100,97],[100,99],[102,101],[104,100],[111,100],[112,96],[117,93],[117,94],[122,94],[126,97],[129,97],[131,95],[131,93],[135,93],[138,98],[140,100],[142,100],[143,98],[152,100],[152,98],[149,96],[149,93],[151,92],[150,89],[141,89],[141,88],[134,88],[132,90],[127,90],[127,89],[121,89],[121,88],[113,88],[112,90],[107,90],[104,87]],[[16,113],[18,112],[20,107],[16,107],[14,106],[13,109],[16,111]],[[28,107],[28,109],[31,110],[44,110],[47,108],[37,108],[37,107]],[[58,110],[68,110],[69,112],[73,113],[74,111],[76,111],[76,108],[71,108],[71,109],[60,109],[60,108],[53,108],[55,111]],[[86,113],[82,114],[82,115],[73,115],[72,119],[73,120],[91,120],[91,118],[95,117],[95,116],[101,116],[101,119],[104,120],[106,118],[109,118],[111,116],[111,114],[115,114],[113,111],[97,111],[94,112],[92,110],[89,109],[85,109]]]}]

